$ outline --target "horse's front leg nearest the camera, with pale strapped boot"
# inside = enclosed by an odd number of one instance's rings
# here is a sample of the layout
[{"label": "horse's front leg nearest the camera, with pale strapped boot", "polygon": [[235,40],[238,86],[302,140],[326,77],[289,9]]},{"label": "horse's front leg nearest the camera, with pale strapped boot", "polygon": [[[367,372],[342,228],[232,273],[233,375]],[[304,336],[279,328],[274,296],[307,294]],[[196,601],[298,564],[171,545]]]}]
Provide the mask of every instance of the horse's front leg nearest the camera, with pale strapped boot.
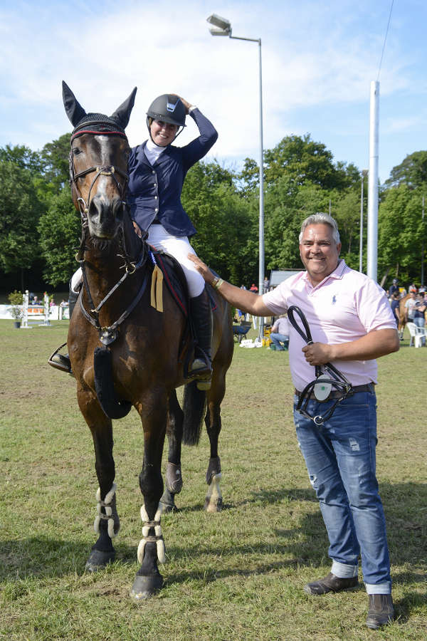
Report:
[{"label": "horse's front leg nearest the camera, with pale strapped boot", "polygon": [[163,578],[157,562],[165,563],[165,549],[160,518],[162,509],[160,497],[163,491],[162,452],[166,432],[167,397],[151,397],[141,403],[139,415],[144,427],[144,462],[139,474],[139,487],[144,496],[141,507],[142,539],[138,546],[137,571],[131,596],[135,600],[149,598],[163,585]]}]

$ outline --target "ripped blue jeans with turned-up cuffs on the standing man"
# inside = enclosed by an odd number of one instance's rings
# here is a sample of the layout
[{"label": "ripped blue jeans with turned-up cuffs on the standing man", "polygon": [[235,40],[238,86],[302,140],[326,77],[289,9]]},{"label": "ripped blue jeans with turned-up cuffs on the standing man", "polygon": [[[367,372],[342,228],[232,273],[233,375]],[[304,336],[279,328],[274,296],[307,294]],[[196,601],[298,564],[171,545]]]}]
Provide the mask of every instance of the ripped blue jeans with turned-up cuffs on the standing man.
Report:
[{"label": "ripped blue jeans with turned-up cuffs on the standing man", "polygon": [[[337,405],[320,427],[295,407],[294,420],[310,482],[330,540],[332,568],[357,573],[359,554],[369,594],[391,591],[386,522],[375,476],[376,397],[357,392]],[[310,415],[325,414],[334,401],[310,400]],[[338,573],[339,575],[339,573]]]}]

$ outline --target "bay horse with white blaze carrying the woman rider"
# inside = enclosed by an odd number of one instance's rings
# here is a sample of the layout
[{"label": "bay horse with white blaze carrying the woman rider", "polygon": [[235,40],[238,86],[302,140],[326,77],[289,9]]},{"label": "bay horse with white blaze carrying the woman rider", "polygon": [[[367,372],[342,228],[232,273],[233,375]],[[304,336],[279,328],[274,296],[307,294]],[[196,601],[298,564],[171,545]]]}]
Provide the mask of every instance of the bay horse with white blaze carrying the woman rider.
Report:
[{"label": "bay horse with white blaze carrying the woman rider", "polygon": [[[125,203],[130,152],[125,127],[135,93],[136,88],[112,116],[87,114],[63,83],[65,111],[74,126],[70,185],[82,222],[77,259],[83,270],[83,287],[68,330],[68,350],[77,381],[78,405],[93,437],[99,482],[95,518],[98,538],[86,568],[104,568],[115,558],[112,538],[119,531],[120,519],[112,419],[127,415],[133,406],[144,430],[139,474],[144,500],[137,552],[140,567],[131,591],[132,598],[141,600],[162,588],[157,565],[165,561],[162,505],[171,508],[174,494],[181,489],[181,441],[198,442],[205,411],[211,444],[205,507],[208,511],[221,509],[218,434],[226,371],[233,355],[233,330],[228,304],[210,288],[215,301],[213,376],[210,390],[199,390],[196,381],[186,379],[185,363],[194,346],[188,319],[169,289],[162,286],[162,279],[154,282],[157,267],[152,264],[152,248],[135,234]],[[182,409],[176,397],[176,387],[181,385],[185,385]],[[167,489],[162,496],[166,433]]]}]

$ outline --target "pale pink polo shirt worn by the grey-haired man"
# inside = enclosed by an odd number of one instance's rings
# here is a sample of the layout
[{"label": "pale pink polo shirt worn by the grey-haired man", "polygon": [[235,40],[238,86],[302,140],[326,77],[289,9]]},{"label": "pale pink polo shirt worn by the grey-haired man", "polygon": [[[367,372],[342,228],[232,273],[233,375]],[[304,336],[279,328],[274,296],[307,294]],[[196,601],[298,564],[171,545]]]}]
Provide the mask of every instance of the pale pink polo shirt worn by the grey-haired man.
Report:
[{"label": "pale pink polo shirt worn by the grey-haired man", "polygon": [[[357,340],[374,330],[396,330],[385,291],[368,276],[347,267],[343,260],[316,287],[310,283],[307,272],[300,271],[263,294],[263,302],[275,314],[284,313],[291,305],[299,307],[307,318],[315,343],[337,345]],[[295,320],[299,320],[297,314]],[[301,351],[306,343],[292,324],[289,325],[290,372],[296,389],[301,392],[315,379],[315,368],[307,363]],[[376,383],[376,360],[332,363],[353,385]]]}]

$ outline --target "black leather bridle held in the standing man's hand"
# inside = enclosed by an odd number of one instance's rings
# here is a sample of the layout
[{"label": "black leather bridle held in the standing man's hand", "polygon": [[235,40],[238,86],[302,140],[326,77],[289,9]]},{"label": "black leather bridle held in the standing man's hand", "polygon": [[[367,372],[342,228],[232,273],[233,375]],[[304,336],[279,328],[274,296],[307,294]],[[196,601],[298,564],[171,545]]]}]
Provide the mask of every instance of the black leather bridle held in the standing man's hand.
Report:
[{"label": "black leather bridle held in the standing man's hand", "polygon": [[[300,317],[305,331],[300,328],[300,325],[295,320],[295,313]],[[305,318],[302,310],[296,305],[290,306],[290,308],[288,308],[288,318],[290,320],[290,323],[292,324],[292,327],[297,331],[297,333],[299,333],[301,338],[305,340],[305,343],[307,343],[307,345],[312,345],[313,340],[310,332],[310,327],[307,323],[307,318]],[[334,404],[331,405],[329,410],[327,410],[324,415],[312,416],[311,414],[309,414],[307,407],[311,395],[313,394],[315,396],[317,402],[327,402],[330,397],[330,393],[332,392],[332,387],[334,387],[337,392],[341,392],[342,395],[336,397]],[[339,370],[337,370],[337,368],[335,368],[332,363],[315,365],[315,380],[309,382],[308,385],[305,386],[304,390],[300,392],[296,410],[297,412],[300,412],[302,416],[312,419],[317,427],[319,427],[325,421],[327,421],[327,419],[330,419],[337,405],[344,399],[346,399],[347,396],[351,395],[352,390],[353,388],[351,382],[349,382],[344,374],[342,374],[342,372],[339,372]]]}]

